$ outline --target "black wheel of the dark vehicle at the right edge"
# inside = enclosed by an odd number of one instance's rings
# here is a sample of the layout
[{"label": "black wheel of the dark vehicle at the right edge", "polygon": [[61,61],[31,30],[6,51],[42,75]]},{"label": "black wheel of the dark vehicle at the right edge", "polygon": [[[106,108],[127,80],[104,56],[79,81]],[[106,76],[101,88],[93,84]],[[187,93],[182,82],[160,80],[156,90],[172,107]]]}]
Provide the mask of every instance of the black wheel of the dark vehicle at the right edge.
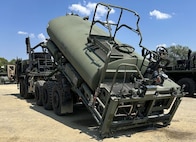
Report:
[{"label": "black wheel of the dark vehicle at the right edge", "polygon": [[195,93],[195,81],[190,78],[182,78],[178,81],[180,86],[185,86],[184,92],[188,92],[189,95],[193,96]]}]

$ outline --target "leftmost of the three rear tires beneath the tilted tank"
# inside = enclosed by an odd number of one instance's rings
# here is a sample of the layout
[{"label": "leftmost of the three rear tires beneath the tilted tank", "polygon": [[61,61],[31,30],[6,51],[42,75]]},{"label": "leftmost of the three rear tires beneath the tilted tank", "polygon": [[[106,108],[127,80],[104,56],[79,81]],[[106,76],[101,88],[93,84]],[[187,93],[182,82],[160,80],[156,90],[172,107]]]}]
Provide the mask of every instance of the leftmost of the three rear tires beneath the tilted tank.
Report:
[{"label": "leftmost of the three rear tires beneath the tilted tank", "polygon": [[35,84],[35,102],[38,106],[42,106],[42,95],[43,95],[43,85],[44,80],[37,81]]}]

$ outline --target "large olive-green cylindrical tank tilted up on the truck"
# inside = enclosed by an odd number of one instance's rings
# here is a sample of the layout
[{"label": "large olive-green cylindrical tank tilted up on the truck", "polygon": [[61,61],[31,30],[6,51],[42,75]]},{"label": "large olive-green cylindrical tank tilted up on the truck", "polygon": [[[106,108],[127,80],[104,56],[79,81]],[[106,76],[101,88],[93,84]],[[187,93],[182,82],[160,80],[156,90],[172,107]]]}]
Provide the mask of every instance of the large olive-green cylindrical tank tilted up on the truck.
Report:
[{"label": "large olive-green cylindrical tank tilted up on the truck", "polygon": [[[98,35],[96,39],[99,45],[89,45],[87,39],[90,26],[91,22],[88,20],[75,15],[66,15],[49,21],[47,32],[63,56],[94,90],[105,64],[106,52],[110,50],[111,45],[106,39],[109,37],[107,33],[98,26],[93,27],[92,33]],[[127,54],[113,49],[112,54],[115,59],[110,60],[109,69],[116,69],[120,63],[140,65],[142,62],[142,56],[135,52]]]}]

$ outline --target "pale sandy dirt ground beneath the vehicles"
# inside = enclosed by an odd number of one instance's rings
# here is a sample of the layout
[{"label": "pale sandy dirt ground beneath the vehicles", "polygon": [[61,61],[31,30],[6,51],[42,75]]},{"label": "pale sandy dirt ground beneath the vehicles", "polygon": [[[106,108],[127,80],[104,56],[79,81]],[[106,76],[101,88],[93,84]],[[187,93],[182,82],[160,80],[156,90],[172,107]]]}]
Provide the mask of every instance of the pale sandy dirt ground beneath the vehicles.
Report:
[{"label": "pale sandy dirt ground beneath the vehicles", "polygon": [[193,142],[196,141],[196,98],[184,97],[170,126],[118,132],[100,139],[91,114],[81,106],[74,113],[53,111],[24,100],[16,84],[0,85],[0,142]]}]

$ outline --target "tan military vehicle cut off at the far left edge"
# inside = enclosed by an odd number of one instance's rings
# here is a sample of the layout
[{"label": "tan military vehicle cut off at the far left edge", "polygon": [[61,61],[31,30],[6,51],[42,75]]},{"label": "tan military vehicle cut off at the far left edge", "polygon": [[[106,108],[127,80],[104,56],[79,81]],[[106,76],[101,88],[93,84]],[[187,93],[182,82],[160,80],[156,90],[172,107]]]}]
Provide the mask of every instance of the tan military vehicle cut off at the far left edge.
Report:
[{"label": "tan military vehicle cut off at the far left edge", "polygon": [[15,65],[6,65],[6,70],[0,69],[0,84],[8,84],[15,82]]}]

